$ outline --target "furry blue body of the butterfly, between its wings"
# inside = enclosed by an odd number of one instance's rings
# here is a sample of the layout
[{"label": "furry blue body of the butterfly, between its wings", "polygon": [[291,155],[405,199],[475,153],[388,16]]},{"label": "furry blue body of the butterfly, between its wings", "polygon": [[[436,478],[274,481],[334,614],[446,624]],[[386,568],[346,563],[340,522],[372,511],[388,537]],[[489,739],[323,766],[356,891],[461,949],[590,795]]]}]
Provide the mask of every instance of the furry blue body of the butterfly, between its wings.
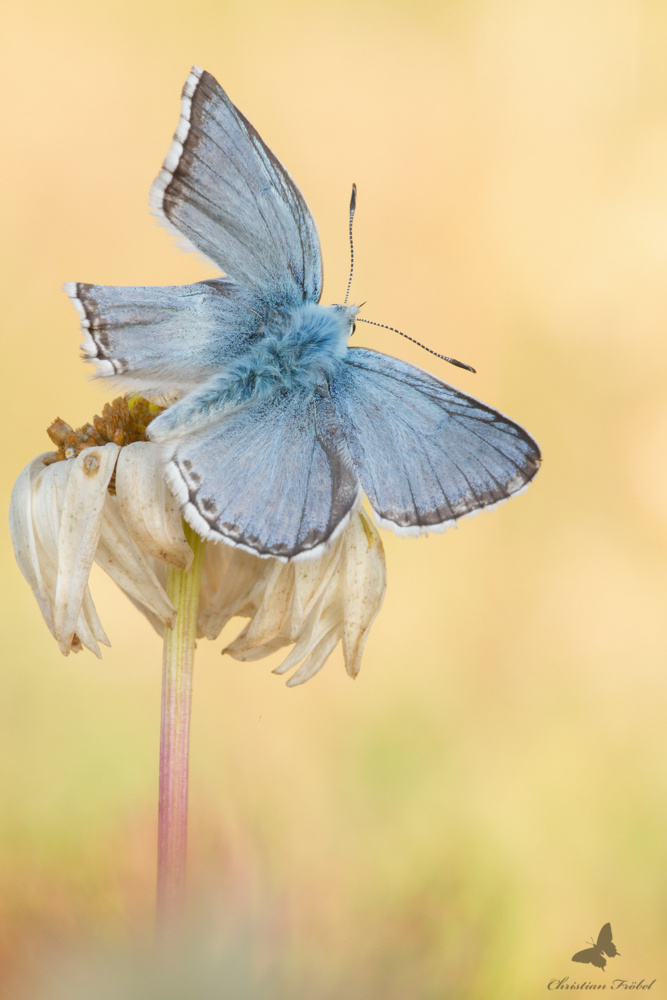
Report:
[{"label": "furry blue body of the butterfly, between its wings", "polygon": [[345,357],[357,312],[358,306],[306,302],[274,314],[247,350],[153,421],[151,440],[165,441],[186,427],[193,431],[250,399],[312,391]]}]

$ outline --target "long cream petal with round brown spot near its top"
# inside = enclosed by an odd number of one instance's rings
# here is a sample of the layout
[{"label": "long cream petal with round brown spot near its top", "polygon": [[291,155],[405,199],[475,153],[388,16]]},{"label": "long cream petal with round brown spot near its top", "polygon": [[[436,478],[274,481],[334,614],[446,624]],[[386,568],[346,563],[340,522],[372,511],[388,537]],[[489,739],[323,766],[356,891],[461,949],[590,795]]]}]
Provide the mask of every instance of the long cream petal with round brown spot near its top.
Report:
[{"label": "long cream petal with round brown spot near its top", "polygon": [[[86,448],[71,460],[58,535],[56,638],[69,651],[102,527],[107,486],[120,448]],[[70,464],[70,463],[68,463]]]}]

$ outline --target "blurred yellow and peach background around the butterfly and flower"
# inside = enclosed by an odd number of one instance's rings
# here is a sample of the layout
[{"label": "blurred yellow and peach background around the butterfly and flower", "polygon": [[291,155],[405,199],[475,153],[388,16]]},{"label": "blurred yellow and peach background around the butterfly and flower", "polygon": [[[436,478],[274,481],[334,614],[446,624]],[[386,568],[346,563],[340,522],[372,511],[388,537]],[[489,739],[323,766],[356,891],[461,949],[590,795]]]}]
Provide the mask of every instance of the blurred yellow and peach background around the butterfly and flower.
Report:
[{"label": "blurred yellow and peach background around the butterfly and flower", "polygon": [[[499,510],[384,533],[389,590],[355,683],[339,651],[296,690],[271,661],[221,658],[238,622],[200,643],[190,882],[207,957],[173,995],[533,1000],[569,976],[657,977],[667,996],[667,7],[4,13],[5,510],[49,423],[114,395],[87,379],[63,282],[211,276],[147,208],[193,63],[301,186],[324,301],[344,295],[356,181],[352,300],[479,374],[386,331],[355,342],[479,396],[544,451]],[[99,572],[113,647],[63,659],[6,530],[3,545],[2,996],[153,995],[113,984],[151,935],[160,642]],[[573,965],[606,921],[621,957]],[[90,965],[80,992],[63,956]]]}]

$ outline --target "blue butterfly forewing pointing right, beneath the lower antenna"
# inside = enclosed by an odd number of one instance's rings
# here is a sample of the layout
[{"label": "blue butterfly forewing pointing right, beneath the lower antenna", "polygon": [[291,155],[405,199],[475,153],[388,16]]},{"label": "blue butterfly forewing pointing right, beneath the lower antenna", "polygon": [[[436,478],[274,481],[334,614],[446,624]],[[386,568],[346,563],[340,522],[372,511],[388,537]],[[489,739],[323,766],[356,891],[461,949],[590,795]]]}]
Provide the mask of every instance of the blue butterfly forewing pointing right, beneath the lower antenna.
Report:
[{"label": "blue butterfly forewing pointing right, beneath the lower antenna", "polygon": [[538,445],[518,424],[388,355],[349,349],[331,391],[371,505],[399,534],[499,503],[539,468]]}]

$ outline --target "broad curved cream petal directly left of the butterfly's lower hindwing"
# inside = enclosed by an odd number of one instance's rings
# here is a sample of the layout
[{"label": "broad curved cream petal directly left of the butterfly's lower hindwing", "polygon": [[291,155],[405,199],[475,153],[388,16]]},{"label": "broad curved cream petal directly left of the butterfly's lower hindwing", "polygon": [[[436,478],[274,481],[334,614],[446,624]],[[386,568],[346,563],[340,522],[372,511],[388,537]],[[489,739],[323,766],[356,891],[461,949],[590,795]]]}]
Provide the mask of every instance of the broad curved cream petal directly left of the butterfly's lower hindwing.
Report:
[{"label": "broad curved cream petal directly left of the butterfly's lower hindwing", "polygon": [[162,475],[160,449],[136,441],[121,450],[116,466],[116,496],[123,520],[140,549],[186,572],[193,553],[180,506]]}]

